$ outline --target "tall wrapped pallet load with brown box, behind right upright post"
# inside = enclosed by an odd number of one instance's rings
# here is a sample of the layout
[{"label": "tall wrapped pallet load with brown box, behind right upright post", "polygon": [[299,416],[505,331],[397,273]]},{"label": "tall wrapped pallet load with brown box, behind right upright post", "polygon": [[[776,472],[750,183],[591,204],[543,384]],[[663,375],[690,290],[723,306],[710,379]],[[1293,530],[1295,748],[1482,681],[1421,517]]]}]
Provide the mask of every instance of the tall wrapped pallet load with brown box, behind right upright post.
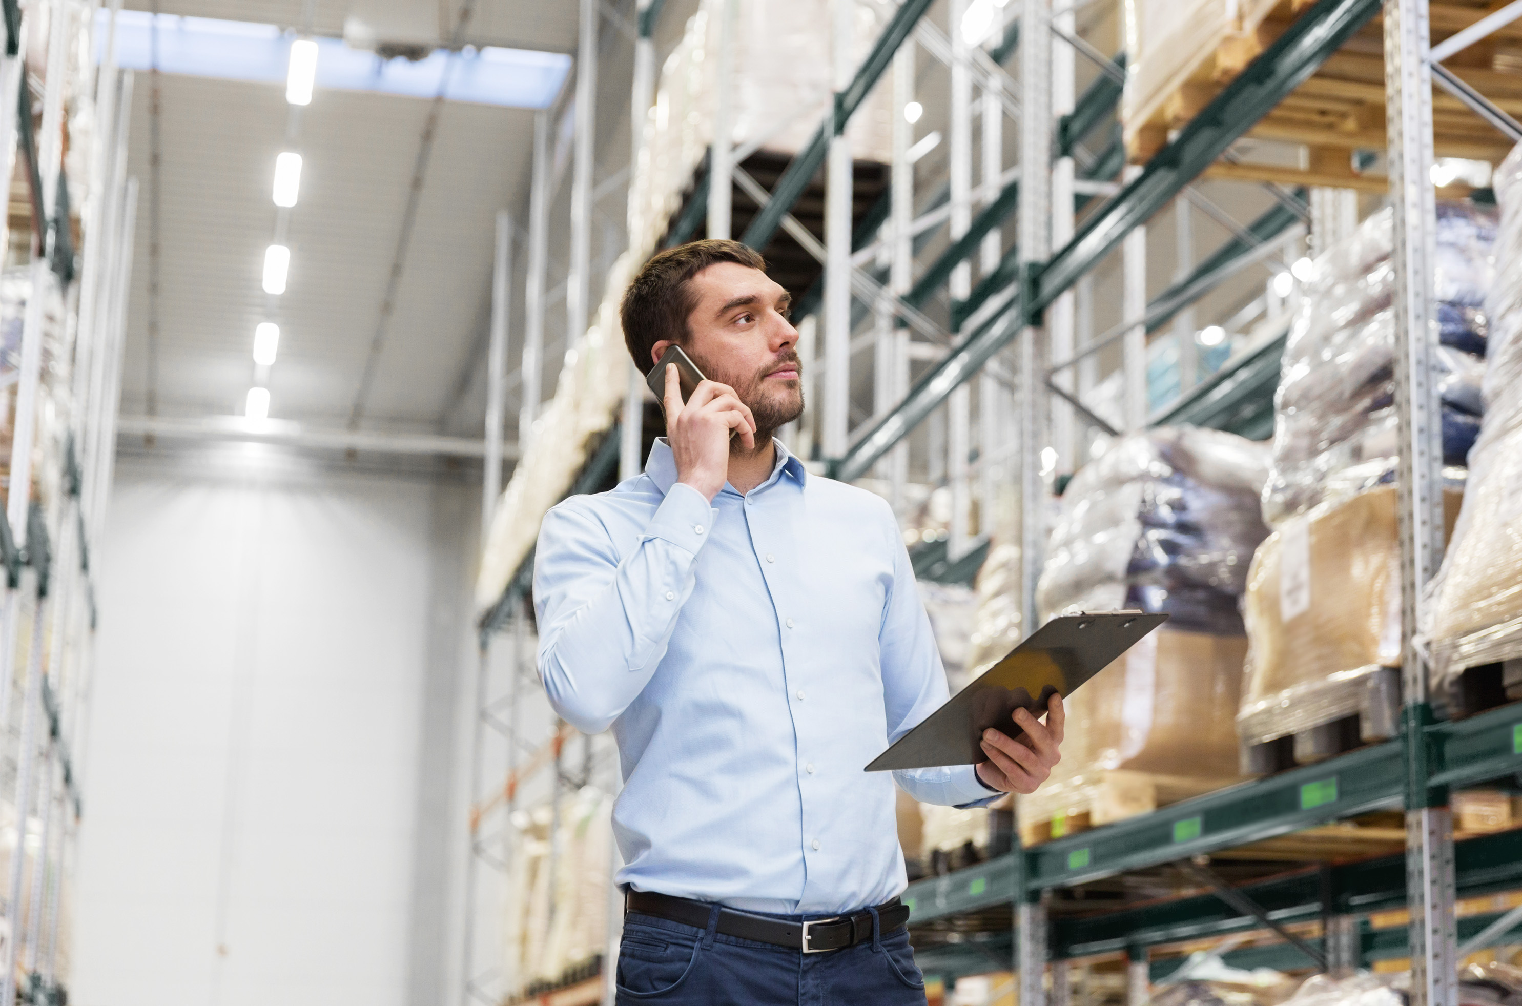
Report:
[{"label": "tall wrapped pallet load with brown box, behind right upright post", "polygon": [[[1437,209],[1444,513],[1458,516],[1479,432],[1496,218]],[[1396,508],[1396,327],[1383,210],[1313,263],[1274,396],[1274,466],[1243,598],[1247,680],[1237,729],[1250,775],[1394,737],[1400,708],[1400,546]]]}]

